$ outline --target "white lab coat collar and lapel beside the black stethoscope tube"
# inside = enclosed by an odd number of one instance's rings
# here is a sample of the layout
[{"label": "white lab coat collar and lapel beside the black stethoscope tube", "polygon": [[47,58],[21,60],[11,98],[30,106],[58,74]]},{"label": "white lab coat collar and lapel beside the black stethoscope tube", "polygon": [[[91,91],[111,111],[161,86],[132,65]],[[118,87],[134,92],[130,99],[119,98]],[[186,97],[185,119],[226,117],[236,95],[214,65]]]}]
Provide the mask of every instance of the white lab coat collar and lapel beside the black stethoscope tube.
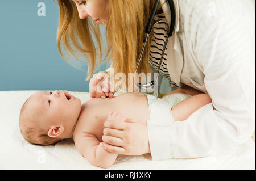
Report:
[{"label": "white lab coat collar and lapel beside the black stethoscope tube", "polygon": [[[175,22],[175,32],[169,40],[167,45],[167,68],[170,74],[171,80],[174,81],[177,86],[180,86],[180,77],[183,69],[183,54],[180,47],[180,41],[177,36],[177,32],[179,32],[179,1],[173,0],[175,6],[175,14],[176,14],[176,22]],[[160,0],[162,5],[164,16],[166,20],[171,22],[171,12],[170,7],[167,0]]]}]

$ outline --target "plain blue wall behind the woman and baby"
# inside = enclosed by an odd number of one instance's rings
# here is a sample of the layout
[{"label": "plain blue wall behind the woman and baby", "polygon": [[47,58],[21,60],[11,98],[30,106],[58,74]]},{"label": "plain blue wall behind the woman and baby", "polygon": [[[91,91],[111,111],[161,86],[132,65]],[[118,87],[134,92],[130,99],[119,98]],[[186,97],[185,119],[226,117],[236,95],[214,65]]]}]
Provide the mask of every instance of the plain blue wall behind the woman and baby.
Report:
[{"label": "plain blue wall behind the woman and baby", "polygon": [[[45,3],[46,16],[38,16],[39,2]],[[0,91],[89,91],[86,72],[67,64],[57,50],[56,2],[0,1],[0,14]],[[105,27],[101,28],[104,35]],[[100,70],[105,69],[106,64],[101,65]]]}]

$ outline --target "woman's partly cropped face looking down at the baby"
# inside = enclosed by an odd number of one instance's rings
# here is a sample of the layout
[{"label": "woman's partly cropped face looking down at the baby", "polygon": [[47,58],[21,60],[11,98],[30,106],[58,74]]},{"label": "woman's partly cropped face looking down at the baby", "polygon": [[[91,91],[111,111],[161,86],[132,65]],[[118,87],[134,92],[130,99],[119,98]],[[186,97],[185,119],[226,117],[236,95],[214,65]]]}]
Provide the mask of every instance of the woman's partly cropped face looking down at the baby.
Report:
[{"label": "woman's partly cropped face looking down at the baby", "polygon": [[85,19],[89,16],[97,24],[102,24],[106,27],[110,11],[109,0],[72,1],[76,3],[80,19]]}]

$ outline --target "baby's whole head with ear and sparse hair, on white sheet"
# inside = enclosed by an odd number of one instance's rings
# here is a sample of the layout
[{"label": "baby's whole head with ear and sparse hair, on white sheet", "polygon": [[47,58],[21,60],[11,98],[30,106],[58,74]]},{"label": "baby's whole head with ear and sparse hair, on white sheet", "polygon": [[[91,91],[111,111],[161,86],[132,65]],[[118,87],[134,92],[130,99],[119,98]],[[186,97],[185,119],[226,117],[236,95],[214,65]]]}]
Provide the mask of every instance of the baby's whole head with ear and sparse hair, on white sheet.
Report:
[{"label": "baby's whole head with ear and sparse hair, on white sheet", "polygon": [[31,144],[55,144],[72,138],[80,111],[81,100],[67,92],[36,92],[20,110],[20,131]]}]

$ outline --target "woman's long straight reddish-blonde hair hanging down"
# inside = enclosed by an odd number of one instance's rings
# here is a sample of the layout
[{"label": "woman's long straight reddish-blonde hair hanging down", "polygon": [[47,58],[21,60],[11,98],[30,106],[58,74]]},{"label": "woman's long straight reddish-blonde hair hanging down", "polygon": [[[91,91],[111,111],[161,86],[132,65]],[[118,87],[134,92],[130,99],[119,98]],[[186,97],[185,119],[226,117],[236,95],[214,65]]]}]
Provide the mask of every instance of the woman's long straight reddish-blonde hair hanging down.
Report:
[{"label": "woman's long straight reddish-blonde hair hanging down", "polygon": [[[134,73],[139,54],[143,46],[144,29],[148,22],[155,1],[152,0],[109,0],[110,17],[106,26],[108,44],[106,56],[103,56],[102,36],[100,26],[91,19],[79,18],[77,8],[72,0],[57,0],[60,7],[60,22],[57,31],[57,47],[61,57],[66,53],[80,60],[79,55],[88,61],[88,77],[92,77],[96,68],[96,59],[100,55],[99,64],[110,60],[112,68],[117,73]],[[160,3],[159,8],[160,9]],[[91,34],[92,33],[92,34]],[[98,44],[98,52],[93,43],[92,35]],[[151,42],[152,35],[148,42]],[[63,47],[63,48],[62,48]],[[151,72],[148,65],[150,43],[147,43],[142,56],[138,73]],[[85,62],[86,63],[86,62]]]}]

